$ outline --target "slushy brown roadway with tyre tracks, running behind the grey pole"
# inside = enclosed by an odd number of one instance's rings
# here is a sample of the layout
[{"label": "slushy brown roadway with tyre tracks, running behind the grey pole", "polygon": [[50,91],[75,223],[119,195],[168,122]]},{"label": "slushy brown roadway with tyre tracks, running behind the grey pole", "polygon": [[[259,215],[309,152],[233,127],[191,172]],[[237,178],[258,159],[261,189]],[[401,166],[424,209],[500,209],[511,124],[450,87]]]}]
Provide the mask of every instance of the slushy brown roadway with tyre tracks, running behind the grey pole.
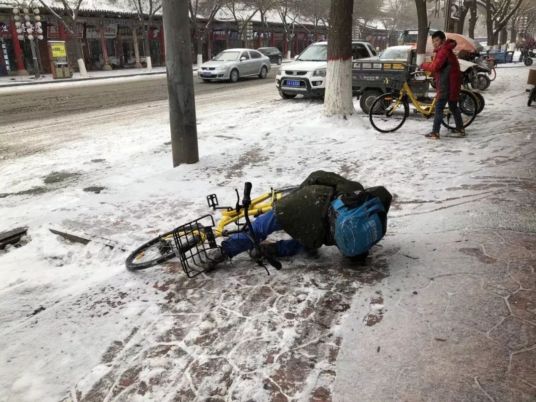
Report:
[{"label": "slushy brown roadway with tyre tracks, running behind the grey pole", "polygon": [[[44,85],[43,90],[40,86],[38,91],[34,86],[6,88],[4,91],[10,93],[0,108],[10,108],[10,96],[17,96],[20,102],[28,96],[35,97],[35,102],[42,106],[32,113],[34,117],[40,116],[35,119],[21,120],[21,115],[14,109],[0,112],[5,113],[0,121],[0,161],[47,151],[50,147],[57,149],[62,143],[83,138],[97,140],[102,136],[108,137],[110,132],[119,140],[123,134],[118,133],[116,128],[128,133],[140,125],[169,124],[165,78],[123,79],[118,84],[101,81],[107,80],[92,81],[91,84]],[[50,88],[50,91],[44,88]],[[122,93],[125,91],[129,92],[128,96]],[[149,99],[166,100],[146,101],[145,94]],[[46,99],[41,100],[40,96],[46,96]],[[279,95],[271,76],[265,80],[245,79],[237,84],[207,84],[196,80],[196,110],[201,121],[210,118],[214,111],[227,110],[231,106],[247,107],[252,103],[277,99]],[[106,101],[102,103],[103,100]],[[28,116],[27,107],[20,110]]]}]

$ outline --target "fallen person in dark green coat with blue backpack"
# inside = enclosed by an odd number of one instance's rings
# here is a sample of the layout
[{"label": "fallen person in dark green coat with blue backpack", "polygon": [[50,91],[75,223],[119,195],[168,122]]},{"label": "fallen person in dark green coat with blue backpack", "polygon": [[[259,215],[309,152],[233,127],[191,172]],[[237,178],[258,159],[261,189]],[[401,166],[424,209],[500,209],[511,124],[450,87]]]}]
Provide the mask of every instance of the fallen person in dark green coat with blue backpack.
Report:
[{"label": "fallen person in dark green coat with blue backpack", "polygon": [[[252,221],[257,241],[283,230],[291,239],[262,243],[263,251],[286,257],[336,245],[345,257],[364,262],[370,248],[385,235],[392,196],[384,187],[363,188],[361,183],[336,173],[317,170],[299,190],[273,203],[273,209]],[[255,244],[244,233],[231,235],[221,249],[209,252],[212,265]]]}]

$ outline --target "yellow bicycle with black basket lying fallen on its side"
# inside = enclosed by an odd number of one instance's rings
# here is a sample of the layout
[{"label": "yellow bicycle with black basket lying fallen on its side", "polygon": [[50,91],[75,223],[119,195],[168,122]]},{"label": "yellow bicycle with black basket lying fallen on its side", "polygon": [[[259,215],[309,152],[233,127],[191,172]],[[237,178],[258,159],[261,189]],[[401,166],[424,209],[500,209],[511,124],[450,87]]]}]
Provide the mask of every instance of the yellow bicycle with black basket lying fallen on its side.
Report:
[{"label": "yellow bicycle with black basket lying fallen on its side", "polygon": [[[266,268],[264,263],[267,262],[279,270],[281,269],[281,264],[259,247],[259,242],[255,238],[254,230],[251,227],[250,218],[270,211],[274,201],[281,199],[286,193],[298,188],[297,186],[292,186],[270,189],[269,192],[252,200],[251,183],[246,182],[242,204],[240,204],[239,192],[235,190],[237,201],[234,207],[219,206],[218,197],[215,194],[211,194],[206,199],[213,211],[221,211],[222,218],[218,224],[214,223],[213,215],[207,214],[187,224],[178,226],[132,251],[126,258],[125,265],[130,271],[143,270],[166,262],[173,257],[178,257],[184,272],[189,278],[193,278],[216,265],[207,255],[207,250],[221,248],[216,243],[218,237],[244,233],[255,244],[257,264]],[[241,222],[241,219],[244,221]],[[227,228],[233,224],[235,228]]]}]

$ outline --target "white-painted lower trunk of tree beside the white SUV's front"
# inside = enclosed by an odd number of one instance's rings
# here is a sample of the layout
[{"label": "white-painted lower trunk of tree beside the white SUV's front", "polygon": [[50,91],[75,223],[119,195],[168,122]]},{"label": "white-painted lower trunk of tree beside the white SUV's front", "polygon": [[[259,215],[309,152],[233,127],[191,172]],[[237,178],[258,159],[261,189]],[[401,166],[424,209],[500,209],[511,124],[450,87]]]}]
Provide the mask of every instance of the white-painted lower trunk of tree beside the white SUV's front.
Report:
[{"label": "white-painted lower trunk of tree beside the white SUV's front", "polygon": [[352,61],[329,60],[326,71],[324,115],[349,116],[354,113],[352,102]]}]

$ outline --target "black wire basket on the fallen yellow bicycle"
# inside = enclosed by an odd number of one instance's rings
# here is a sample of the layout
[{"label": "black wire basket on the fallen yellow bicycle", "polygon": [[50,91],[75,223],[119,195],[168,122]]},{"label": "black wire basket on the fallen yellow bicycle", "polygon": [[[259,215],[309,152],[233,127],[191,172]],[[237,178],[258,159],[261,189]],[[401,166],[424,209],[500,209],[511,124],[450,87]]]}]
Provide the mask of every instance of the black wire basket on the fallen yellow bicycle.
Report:
[{"label": "black wire basket on the fallen yellow bicycle", "polygon": [[221,246],[216,244],[213,228],[214,218],[205,215],[173,230],[175,255],[181,260],[182,269],[188,278],[196,277],[218,264],[218,261],[207,255],[211,249],[223,252]]}]

